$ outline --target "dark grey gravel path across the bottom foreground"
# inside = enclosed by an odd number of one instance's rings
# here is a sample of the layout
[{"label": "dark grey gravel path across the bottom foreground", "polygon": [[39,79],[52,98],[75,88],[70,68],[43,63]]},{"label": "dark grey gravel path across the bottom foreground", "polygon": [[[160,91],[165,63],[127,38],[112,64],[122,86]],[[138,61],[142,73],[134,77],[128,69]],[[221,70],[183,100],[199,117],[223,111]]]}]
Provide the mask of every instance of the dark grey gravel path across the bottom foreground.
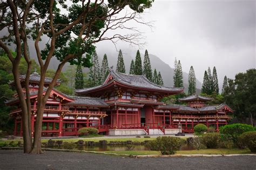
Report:
[{"label": "dark grey gravel path across the bottom foreground", "polygon": [[122,158],[113,155],[0,150],[0,169],[256,169],[255,156]]}]

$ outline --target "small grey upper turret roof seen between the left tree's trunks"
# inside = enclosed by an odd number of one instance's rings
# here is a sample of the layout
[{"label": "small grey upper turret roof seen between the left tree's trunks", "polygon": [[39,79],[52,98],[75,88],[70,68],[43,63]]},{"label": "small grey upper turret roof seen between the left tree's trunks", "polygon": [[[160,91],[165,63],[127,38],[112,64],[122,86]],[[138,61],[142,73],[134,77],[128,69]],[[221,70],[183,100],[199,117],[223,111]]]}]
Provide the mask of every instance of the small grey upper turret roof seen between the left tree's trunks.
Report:
[{"label": "small grey upper turret roof seen between the left tree's trunks", "polygon": [[[26,78],[26,75],[19,75],[19,79],[21,81],[25,81],[25,78]],[[39,84],[40,82],[40,78],[41,76],[38,74],[38,72],[33,72],[32,74],[30,74],[30,77],[29,77],[29,81],[30,82],[33,82],[33,83],[37,83]],[[49,78],[49,77],[45,77],[44,79],[44,84],[50,84],[52,81],[52,78]],[[11,81],[9,84],[14,84],[14,81]],[[56,82],[56,85],[60,84],[60,80],[58,79],[57,82]]]}]

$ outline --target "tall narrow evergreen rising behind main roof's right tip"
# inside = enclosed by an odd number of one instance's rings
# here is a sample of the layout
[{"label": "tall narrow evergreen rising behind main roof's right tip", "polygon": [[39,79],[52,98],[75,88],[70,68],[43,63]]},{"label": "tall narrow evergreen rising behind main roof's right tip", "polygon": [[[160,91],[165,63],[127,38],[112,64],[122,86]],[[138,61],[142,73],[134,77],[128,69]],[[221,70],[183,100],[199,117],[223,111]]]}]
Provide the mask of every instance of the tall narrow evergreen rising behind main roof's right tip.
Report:
[{"label": "tall narrow evergreen rising behind main roof's right tip", "polygon": [[174,74],[173,74],[174,87],[183,87],[183,72],[181,68],[180,60],[177,62],[176,58],[174,61]]}]

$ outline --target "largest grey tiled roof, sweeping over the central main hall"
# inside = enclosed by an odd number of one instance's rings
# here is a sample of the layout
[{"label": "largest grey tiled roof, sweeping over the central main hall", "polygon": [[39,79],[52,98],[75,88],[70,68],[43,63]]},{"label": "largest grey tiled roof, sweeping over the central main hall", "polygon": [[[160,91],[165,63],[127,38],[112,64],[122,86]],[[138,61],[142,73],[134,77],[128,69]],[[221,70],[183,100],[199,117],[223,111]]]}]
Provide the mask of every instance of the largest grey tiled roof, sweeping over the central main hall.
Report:
[{"label": "largest grey tiled roof, sweeping over the central main hall", "polygon": [[103,85],[76,90],[76,92],[84,93],[84,92],[90,92],[92,90],[97,90],[97,89],[100,89],[101,87],[111,84],[113,81],[117,81],[118,83],[129,86],[129,87],[135,87],[135,88],[138,87],[140,89],[169,91],[169,92],[177,92],[177,93],[184,91],[183,88],[165,87],[165,86],[153,84],[143,75],[119,73],[114,71],[113,69],[110,69],[109,76],[107,77]]}]

